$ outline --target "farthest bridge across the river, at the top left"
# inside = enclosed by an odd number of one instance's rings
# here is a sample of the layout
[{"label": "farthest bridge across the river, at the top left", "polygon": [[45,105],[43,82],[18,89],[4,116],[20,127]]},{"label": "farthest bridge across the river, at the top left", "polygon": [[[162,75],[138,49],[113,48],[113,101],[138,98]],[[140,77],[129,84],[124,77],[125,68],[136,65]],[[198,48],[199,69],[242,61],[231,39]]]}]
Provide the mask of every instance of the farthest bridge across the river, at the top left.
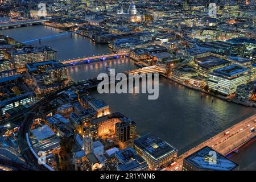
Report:
[{"label": "farthest bridge across the river, at the top left", "polygon": [[21,26],[26,26],[26,25],[32,25],[32,24],[40,24],[43,22],[48,22],[50,19],[44,18],[44,19],[29,19],[29,20],[17,20],[14,22],[2,22],[0,23],[0,28],[2,29],[7,29],[10,27],[17,28]]}]

